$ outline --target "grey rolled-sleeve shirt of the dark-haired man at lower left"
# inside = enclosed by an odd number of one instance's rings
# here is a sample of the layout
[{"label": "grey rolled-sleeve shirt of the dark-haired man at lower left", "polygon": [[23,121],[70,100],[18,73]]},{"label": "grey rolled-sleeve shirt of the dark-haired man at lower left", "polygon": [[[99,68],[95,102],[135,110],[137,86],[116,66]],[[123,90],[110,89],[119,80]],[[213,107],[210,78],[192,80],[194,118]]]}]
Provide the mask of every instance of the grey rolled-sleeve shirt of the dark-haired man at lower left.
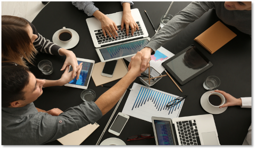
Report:
[{"label": "grey rolled-sleeve shirt of the dark-haired man at lower left", "polygon": [[1,107],[1,145],[41,145],[61,138],[102,117],[94,102],[83,102],[59,116],[38,112],[34,103]]}]

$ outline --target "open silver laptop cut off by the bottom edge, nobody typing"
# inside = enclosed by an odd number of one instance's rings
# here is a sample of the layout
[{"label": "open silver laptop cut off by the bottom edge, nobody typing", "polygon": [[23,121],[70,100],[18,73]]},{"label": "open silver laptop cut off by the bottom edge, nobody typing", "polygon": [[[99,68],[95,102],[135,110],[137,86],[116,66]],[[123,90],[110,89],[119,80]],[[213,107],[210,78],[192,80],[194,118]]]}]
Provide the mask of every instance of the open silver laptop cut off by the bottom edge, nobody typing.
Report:
[{"label": "open silver laptop cut off by the bottom edge, nobody typing", "polygon": [[220,145],[212,114],[152,117],[156,145]]}]

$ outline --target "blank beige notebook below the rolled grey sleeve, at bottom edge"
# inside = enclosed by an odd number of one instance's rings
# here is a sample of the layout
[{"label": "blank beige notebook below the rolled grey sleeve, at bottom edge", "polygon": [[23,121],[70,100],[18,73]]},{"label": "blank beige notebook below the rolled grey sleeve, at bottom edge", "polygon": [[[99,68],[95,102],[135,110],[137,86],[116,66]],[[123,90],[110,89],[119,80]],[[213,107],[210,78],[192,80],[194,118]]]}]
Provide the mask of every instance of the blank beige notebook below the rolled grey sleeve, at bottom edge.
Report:
[{"label": "blank beige notebook below the rolled grey sleeve, at bottom edge", "polygon": [[62,145],[80,145],[87,137],[89,137],[95,129],[100,125],[98,123],[89,124],[70,133],[62,138],[57,139]]}]

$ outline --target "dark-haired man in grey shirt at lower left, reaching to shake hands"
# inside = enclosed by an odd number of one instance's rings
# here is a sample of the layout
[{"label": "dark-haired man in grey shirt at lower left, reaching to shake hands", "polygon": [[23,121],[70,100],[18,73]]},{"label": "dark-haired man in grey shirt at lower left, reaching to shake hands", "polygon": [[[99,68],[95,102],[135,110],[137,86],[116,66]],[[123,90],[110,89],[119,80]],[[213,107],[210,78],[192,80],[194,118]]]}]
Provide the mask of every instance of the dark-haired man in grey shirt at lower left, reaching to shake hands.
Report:
[{"label": "dark-haired man in grey shirt at lower left, reaching to shake hands", "polygon": [[85,101],[64,112],[58,108],[36,109],[33,102],[42,95],[45,81],[37,79],[27,67],[1,66],[1,145],[41,145],[94,124],[143,72],[141,62],[141,52],[137,52],[129,72],[98,100]]}]

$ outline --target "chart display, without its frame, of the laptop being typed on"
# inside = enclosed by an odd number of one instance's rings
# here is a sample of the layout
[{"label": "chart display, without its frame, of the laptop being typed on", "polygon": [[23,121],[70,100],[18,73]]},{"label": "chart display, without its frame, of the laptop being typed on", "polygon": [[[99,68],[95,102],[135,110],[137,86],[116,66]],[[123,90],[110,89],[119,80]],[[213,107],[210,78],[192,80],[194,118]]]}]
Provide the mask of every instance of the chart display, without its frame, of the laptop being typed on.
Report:
[{"label": "chart display, without its frame, of the laptop being typed on", "polygon": [[105,48],[100,48],[101,55],[105,60],[123,57],[123,56],[129,56],[132,54],[136,54],[138,51],[143,49],[147,44],[149,40],[143,39],[138,41],[132,41],[127,43],[121,43],[119,45],[115,46],[109,46]]}]

